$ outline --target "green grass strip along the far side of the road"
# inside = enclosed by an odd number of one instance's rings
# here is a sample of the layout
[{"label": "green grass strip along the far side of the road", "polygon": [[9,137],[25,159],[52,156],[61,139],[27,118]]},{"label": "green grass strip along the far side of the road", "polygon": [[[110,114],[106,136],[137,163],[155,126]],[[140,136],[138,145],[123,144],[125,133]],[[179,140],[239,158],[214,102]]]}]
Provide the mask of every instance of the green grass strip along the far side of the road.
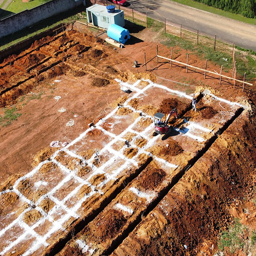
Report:
[{"label": "green grass strip along the far side of the road", "polygon": [[256,19],[243,17],[239,14],[234,14],[234,13],[231,13],[231,12],[225,12],[225,11],[222,11],[220,9],[216,9],[214,7],[211,7],[211,6],[207,6],[203,3],[195,2],[193,0],[172,0],[172,1],[176,2],[176,3],[182,3],[184,5],[191,6],[191,7],[194,7],[196,9],[200,9],[200,10],[203,10],[203,11],[206,11],[206,12],[212,12],[212,13],[215,13],[215,14],[233,19],[233,20],[239,20],[239,21],[242,21],[242,22],[245,22],[245,23],[256,25]]}]

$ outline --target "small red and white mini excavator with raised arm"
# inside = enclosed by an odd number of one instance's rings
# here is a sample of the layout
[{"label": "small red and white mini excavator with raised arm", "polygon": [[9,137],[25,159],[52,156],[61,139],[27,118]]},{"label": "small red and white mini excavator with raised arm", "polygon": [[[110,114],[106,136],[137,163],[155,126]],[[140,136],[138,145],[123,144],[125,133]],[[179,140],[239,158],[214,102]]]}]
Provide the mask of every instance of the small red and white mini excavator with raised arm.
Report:
[{"label": "small red and white mini excavator with raised arm", "polygon": [[177,118],[177,108],[174,108],[169,112],[165,121],[163,121],[163,117],[166,116],[165,114],[157,112],[154,115],[154,136],[157,134],[166,134],[169,131],[169,128],[172,128],[168,125],[169,119],[172,114],[175,114],[175,117]]}]

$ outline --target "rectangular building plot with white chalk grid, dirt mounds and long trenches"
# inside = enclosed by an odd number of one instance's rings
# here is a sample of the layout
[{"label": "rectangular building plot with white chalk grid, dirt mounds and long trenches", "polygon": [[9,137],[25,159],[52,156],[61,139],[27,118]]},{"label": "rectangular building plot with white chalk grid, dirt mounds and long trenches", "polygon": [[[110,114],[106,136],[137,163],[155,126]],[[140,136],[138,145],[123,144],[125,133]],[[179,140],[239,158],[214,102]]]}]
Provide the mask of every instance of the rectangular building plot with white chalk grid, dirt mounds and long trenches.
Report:
[{"label": "rectangular building plot with white chalk grid, dirt mounds and long trenches", "polygon": [[[0,216],[6,221],[1,240],[13,234],[0,255],[68,255],[77,247],[85,255],[111,253],[242,111],[239,104],[206,95],[195,113],[191,96],[140,82],[125,84],[134,93],[122,108],[0,192],[1,199],[12,193],[18,207],[6,207]],[[153,136],[149,109],[157,105],[148,108],[146,102],[154,95],[183,102],[182,117],[172,120],[165,138]],[[134,105],[140,99],[145,104]]]}]

